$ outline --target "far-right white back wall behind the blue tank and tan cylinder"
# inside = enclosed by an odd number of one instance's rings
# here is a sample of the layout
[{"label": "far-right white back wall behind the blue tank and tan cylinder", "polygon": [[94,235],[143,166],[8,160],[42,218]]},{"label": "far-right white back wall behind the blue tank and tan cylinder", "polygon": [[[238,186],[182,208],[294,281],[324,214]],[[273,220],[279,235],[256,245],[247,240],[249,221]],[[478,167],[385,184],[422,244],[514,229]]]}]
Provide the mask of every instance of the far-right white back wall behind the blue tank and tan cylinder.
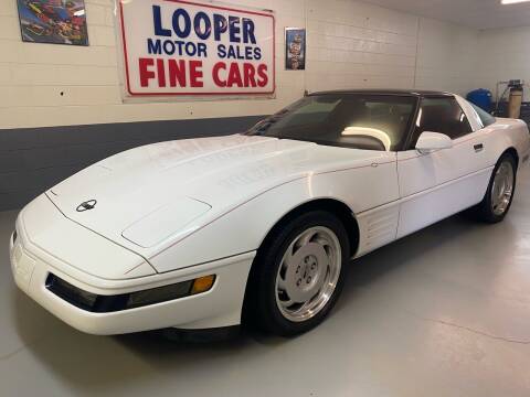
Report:
[{"label": "far-right white back wall behind the blue tank and tan cylinder", "polygon": [[[521,78],[530,84],[530,26],[483,31],[478,51],[477,87],[488,88],[495,95],[497,82]],[[524,97],[530,100],[528,86]]]}]

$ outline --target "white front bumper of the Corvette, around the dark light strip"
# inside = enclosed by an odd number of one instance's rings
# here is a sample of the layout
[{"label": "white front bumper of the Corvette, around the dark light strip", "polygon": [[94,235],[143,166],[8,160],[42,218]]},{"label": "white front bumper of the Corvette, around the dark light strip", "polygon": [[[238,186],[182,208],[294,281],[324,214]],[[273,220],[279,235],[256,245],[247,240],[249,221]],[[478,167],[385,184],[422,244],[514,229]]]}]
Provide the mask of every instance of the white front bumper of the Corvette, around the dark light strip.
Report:
[{"label": "white front bumper of the Corvette, around the dark light strip", "polygon": [[[215,329],[237,325],[248,271],[255,253],[242,254],[166,273],[129,280],[83,276],[60,258],[32,244],[19,217],[18,237],[10,240],[11,270],[17,286],[47,311],[71,326],[91,334],[110,335],[163,328]],[[65,271],[66,270],[66,271]],[[92,293],[115,296],[178,283],[214,273],[208,292],[118,312],[94,313],[80,309],[51,292],[46,278],[53,273]]]}]

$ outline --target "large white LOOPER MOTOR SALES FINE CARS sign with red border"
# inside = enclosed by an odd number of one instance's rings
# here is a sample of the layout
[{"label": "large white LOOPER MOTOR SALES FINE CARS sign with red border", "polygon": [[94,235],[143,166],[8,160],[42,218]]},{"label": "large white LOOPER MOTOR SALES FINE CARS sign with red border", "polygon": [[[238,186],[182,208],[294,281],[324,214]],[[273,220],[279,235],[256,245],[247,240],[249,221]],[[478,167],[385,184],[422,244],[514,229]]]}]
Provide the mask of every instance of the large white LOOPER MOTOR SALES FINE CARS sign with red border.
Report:
[{"label": "large white LOOPER MOTOR SALES FINE CARS sign with red border", "polygon": [[271,96],[274,14],[225,3],[119,0],[126,97]]}]

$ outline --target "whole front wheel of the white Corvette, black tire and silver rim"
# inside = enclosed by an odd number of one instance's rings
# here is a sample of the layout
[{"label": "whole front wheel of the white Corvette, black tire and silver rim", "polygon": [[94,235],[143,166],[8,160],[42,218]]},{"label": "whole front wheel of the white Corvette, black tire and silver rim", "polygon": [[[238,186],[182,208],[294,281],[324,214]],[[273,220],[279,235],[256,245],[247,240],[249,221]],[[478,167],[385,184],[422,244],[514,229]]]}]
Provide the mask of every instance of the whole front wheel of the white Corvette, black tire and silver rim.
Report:
[{"label": "whole front wheel of the white Corvette, black tire and silver rim", "polygon": [[307,332],[337,302],[349,260],[348,234],[337,216],[312,211],[287,221],[257,251],[245,312],[268,333]]}]

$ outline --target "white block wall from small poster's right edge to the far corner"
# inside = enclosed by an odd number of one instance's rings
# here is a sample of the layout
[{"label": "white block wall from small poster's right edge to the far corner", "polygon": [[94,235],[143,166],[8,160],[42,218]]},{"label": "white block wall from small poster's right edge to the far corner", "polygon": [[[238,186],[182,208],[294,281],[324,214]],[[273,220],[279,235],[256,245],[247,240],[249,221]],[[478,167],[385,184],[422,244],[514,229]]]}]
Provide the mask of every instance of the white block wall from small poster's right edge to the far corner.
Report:
[{"label": "white block wall from small poster's right edge to the far corner", "polygon": [[309,90],[473,87],[476,30],[344,0],[308,0],[306,14]]}]

